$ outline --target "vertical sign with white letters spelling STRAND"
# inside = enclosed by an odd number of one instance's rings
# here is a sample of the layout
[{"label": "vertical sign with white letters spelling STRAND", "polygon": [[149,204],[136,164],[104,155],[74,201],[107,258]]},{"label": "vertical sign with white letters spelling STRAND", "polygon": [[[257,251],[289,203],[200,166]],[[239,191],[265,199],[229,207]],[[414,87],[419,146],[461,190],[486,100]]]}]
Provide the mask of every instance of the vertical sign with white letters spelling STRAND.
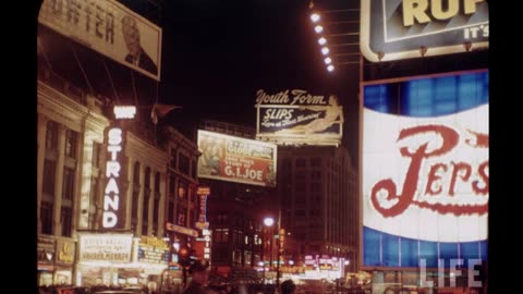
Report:
[{"label": "vertical sign with white letters spelling STRAND", "polygon": [[120,152],[123,145],[123,131],[118,126],[112,126],[107,132],[107,151],[106,162],[107,184],[104,195],[104,212],[101,215],[101,225],[104,229],[124,229],[125,209],[123,206],[124,197],[120,197]]}]

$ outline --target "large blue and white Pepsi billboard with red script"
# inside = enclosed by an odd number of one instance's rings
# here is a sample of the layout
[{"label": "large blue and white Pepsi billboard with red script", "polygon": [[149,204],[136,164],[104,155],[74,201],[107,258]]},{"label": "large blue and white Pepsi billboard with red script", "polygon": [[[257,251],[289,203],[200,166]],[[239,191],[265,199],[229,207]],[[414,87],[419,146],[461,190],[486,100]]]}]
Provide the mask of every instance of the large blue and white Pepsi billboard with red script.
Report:
[{"label": "large blue and white Pepsi billboard with red script", "polygon": [[486,260],[488,72],[362,93],[363,266]]}]

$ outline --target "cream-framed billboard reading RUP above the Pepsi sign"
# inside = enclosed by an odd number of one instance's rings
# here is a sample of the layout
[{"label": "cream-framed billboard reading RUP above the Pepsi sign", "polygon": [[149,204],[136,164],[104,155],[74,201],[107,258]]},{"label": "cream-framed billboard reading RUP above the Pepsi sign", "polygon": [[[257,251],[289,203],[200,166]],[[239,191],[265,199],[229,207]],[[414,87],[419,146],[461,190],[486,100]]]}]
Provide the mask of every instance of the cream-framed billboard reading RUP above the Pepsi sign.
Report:
[{"label": "cream-framed billboard reading RUP above the Pepsi sign", "polygon": [[361,50],[372,62],[488,47],[484,0],[362,0]]}]

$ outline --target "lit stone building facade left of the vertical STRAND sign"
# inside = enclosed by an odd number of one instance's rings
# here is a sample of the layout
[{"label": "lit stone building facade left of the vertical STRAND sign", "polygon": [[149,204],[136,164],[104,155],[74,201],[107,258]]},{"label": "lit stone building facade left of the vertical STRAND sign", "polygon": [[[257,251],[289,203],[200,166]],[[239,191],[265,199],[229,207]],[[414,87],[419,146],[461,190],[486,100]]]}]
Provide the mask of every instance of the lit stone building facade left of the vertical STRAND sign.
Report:
[{"label": "lit stone building facade left of the vertical STRAND sign", "polygon": [[96,226],[99,207],[92,186],[100,173],[93,157],[109,121],[95,97],[50,71],[39,71],[38,77],[38,279],[40,284],[72,284],[76,231]]}]

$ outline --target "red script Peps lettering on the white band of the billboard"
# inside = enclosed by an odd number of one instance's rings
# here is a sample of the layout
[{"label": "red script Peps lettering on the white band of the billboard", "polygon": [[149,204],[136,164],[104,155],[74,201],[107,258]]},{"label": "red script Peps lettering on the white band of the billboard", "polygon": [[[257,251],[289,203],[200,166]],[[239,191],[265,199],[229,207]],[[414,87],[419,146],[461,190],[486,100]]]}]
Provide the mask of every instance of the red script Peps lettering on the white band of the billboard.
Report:
[{"label": "red script Peps lettering on the white band of the billboard", "polygon": [[[465,144],[475,147],[475,148],[488,148],[488,135],[479,134],[472,131],[467,131],[474,135],[474,138],[466,138]],[[453,205],[453,204],[429,204],[425,201],[418,201],[414,199],[414,195],[417,191],[419,171],[423,164],[424,159],[434,158],[438,156],[446,155],[452,151],[459,144],[460,135],[457,131],[445,125],[421,125],[410,128],[404,128],[400,132],[398,142],[414,137],[425,133],[434,133],[437,136],[441,137],[441,146],[435,148],[434,150],[428,150],[428,142],[419,143],[419,146],[415,148],[414,151],[410,151],[409,147],[401,147],[400,154],[403,157],[410,157],[411,163],[408,168],[405,180],[402,187],[402,194],[398,195],[397,184],[392,179],[385,179],[377,182],[370,191],[370,201],[375,209],[386,218],[391,218],[401,215],[411,205],[416,205],[419,208],[426,208],[439,213],[453,213],[455,216],[461,215],[471,215],[478,213],[484,215],[488,212],[488,204],[485,205]],[[466,162],[451,162],[452,173],[450,176],[450,186],[448,189],[449,196],[454,196],[455,194],[455,183],[458,176],[463,182],[469,181],[472,174],[472,167]],[[436,186],[435,184],[441,184],[442,174],[448,170],[447,163],[436,163],[430,167],[430,170],[427,174],[427,184],[425,186],[426,195],[437,195],[441,194],[442,186]],[[488,194],[488,160],[479,164],[477,168],[477,173],[479,180],[472,182],[472,189],[474,193],[479,195]],[[435,187],[436,186],[436,187]],[[380,199],[378,199],[378,194],[385,191],[387,193],[387,200],[398,201],[392,206],[385,208],[380,205]]]}]

